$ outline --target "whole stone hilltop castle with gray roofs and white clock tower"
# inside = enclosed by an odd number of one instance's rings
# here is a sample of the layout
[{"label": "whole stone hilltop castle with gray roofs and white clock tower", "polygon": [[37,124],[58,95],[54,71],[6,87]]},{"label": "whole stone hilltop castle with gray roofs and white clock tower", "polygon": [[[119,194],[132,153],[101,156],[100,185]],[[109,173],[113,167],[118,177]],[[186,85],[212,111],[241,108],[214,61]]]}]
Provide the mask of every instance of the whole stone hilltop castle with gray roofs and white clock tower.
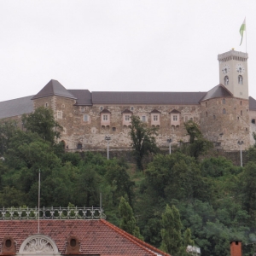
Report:
[{"label": "whole stone hilltop castle with gray roofs and white clock tower", "polygon": [[0,119],[15,119],[38,107],[51,108],[63,126],[61,141],[68,150],[131,148],[131,115],[159,127],[156,142],[166,147],[188,142],[184,123],[193,120],[215,147],[225,151],[253,142],[256,101],[248,96],[247,53],[231,49],[218,55],[219,84],[205,92],[67,90],[50,80],[34,96],[0,102]]}]

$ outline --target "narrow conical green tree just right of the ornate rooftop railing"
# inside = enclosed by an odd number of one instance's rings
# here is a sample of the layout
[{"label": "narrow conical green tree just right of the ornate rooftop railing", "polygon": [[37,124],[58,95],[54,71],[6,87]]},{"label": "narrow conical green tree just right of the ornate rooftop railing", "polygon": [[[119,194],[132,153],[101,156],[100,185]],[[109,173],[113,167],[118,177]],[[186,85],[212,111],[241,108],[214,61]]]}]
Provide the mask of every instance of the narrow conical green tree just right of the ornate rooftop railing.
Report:
[{"label": "narrow conical green tree just right of the ornate rooftop railing", "polygon": [[140,230],[136,225],[136,219],[134,218],[132,209],[124,197],[121,197],[119,203],[119,214],[121,216],[121,221],[119,224],[120,229],[125,230],[132,236],[136,236],[143,240],[143,236],[140,234]]}]

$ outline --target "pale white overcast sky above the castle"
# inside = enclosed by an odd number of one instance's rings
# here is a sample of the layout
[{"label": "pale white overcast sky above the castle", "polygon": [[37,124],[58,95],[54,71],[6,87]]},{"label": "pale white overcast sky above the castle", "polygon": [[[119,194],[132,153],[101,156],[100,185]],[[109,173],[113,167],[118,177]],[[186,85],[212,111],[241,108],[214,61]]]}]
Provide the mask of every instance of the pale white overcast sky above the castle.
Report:
[{"label": "pale white overcast sky above the castle", "polygon": [[[256,98],[255,0],[0,0],[0,101],[67,89],[207,91],[241,46]],[[1,111],[1,110],[0,110]]]}]

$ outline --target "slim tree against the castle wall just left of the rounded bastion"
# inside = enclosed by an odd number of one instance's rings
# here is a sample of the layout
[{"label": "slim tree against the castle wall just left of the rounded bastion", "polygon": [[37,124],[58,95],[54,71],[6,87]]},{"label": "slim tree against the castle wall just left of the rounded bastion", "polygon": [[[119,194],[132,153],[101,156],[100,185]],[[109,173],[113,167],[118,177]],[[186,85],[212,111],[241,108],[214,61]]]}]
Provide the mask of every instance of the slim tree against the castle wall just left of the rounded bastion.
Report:
[{"label": "slim tree against the castle wall just left of the rounded bastion", "polygon": [[189,120],[184,125],[189,135],[189,154],[198,159],[200,154],[206,153],[209,148],[212,148],[212,143],[203,137],[195,122]]}]

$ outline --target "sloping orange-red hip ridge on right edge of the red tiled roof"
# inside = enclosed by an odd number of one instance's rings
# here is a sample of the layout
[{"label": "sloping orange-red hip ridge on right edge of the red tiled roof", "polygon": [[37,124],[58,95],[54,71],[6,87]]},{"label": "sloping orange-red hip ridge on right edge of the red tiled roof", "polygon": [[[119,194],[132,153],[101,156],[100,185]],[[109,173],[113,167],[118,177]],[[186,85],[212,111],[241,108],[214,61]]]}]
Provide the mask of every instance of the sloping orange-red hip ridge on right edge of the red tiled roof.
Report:
[{"label": "sloping orange-red hip ridge on right edge of the red tiled roof", "polygon": [[[120,235],[125,236],[126,238],[128,238],[130,241],[136,243],[139,247],[142,247],[144,250],[148,251],[148,253],[152,253],[152,255],[155,255],[154,252],[156,253],[161,253],[163,256],[170,256],[170,254],[165,253],[163,251],[161,251],[160,249],[148,244],[145,241],[140,240],[139,238],[137,238],[136,236],[132,236],[131,234],[127,233],[125,230],[121,230],[119,227],[109,223],[107,220],[105,219],[100,219],[104,224],[107,224],[108,227],[110,227],[112,230],[115,230],[116,232],[118,232]],[[150,249],[151,250],[150,250]]]}]

